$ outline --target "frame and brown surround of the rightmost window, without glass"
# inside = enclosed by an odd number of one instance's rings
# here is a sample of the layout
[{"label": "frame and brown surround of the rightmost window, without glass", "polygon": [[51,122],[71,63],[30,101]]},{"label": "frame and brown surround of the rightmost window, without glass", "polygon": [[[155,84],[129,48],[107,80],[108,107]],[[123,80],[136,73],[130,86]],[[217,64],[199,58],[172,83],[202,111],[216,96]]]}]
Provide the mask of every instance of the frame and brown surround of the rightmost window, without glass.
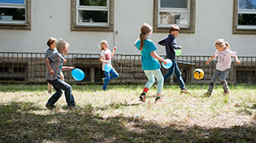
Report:
[{"label": "frame and brown surround of the rightmost window, without glass", "polygon": [[256,10],[239,10],[239,0],[233,2],[233,34],[256,34],[256,26],[239,26],[238,14],[256,14]]}]

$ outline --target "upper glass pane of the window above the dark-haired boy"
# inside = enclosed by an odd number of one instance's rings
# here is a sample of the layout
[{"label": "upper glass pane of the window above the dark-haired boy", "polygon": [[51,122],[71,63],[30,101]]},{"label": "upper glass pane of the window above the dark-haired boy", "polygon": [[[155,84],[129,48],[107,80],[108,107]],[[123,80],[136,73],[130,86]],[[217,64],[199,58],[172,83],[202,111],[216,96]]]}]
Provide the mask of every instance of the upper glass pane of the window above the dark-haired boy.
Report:
[{"label": "upper glass pane of the window above the dark-haired boy", "polygon": [[187,0],[160,0],[161,8],[187,8]]}]

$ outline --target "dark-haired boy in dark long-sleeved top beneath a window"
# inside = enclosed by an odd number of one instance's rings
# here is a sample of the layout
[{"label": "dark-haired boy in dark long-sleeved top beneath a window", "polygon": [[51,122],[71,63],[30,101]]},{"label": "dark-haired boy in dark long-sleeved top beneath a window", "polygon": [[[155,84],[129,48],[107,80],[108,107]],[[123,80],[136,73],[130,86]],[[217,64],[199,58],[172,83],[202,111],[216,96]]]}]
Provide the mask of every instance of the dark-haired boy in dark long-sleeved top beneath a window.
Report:
[{"label": "dark-haired boy in dark long-sleeved top beneath a window", "polygon": [[169,68],[169,72],[164,76],[164,80],[166,81],[169,77],[175,75],[177,77],[177,82],[181,89],[181,93],[190,94],[189,90],[186,89],[185,83],[183,81],[182,72],[179,70],[177,66],[177,62],[175,60],[175,50],[174,49],[182,49],[181,46],[176,45],[175,38],[177,37],[178,32],[180,31],[177,25],[172,25],[169,29],[169,35],[163,40],[160,40],[158,43],[162,46],[166,46],[166,59],[172,60],[172,66]]}]

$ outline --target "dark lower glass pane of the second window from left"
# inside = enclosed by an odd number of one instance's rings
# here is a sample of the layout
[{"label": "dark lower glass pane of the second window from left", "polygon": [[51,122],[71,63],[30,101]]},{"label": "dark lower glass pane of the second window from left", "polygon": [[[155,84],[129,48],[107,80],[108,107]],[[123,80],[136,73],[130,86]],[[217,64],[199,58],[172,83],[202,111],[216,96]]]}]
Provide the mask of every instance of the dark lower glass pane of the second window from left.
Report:
[{"label": "dark lower glass pane of the second window from left", "polygon": [[79,10],[79,22],[108,22],[108,11]]}]

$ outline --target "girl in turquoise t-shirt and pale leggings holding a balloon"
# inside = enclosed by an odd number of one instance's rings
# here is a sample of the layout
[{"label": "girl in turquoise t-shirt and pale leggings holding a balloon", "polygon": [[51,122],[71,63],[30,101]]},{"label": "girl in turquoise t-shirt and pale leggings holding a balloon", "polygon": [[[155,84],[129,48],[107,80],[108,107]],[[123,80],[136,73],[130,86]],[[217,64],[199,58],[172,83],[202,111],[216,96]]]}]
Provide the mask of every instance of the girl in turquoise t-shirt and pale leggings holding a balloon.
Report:
[{"label": "girl in turquoise t-shirt and pale leggings holding a balloon", "polygon": [[153,41],[149,40],[152,35],[152,27],[148,24],[144,23],[140,29],[141,33],[139,39],[134,43],[134,47],[139,49],[142,54],[142,62],[143,62],[143,72],[145,72],[148,77],[148,83],[146,83],[143,93],[139,96],[139,99],[143,102],[146,101],[146,94],[150,87],[154,84],[154,77],[157,78],[157,96],[155,101],[161,101],[160,95],[163,89],[164,80],[163,75],[160,72],[160,63],[158,60],[164,62],[166,65],[166,61],[161,58],[158,54],[155,53],[157,49],[153,43]]}]

